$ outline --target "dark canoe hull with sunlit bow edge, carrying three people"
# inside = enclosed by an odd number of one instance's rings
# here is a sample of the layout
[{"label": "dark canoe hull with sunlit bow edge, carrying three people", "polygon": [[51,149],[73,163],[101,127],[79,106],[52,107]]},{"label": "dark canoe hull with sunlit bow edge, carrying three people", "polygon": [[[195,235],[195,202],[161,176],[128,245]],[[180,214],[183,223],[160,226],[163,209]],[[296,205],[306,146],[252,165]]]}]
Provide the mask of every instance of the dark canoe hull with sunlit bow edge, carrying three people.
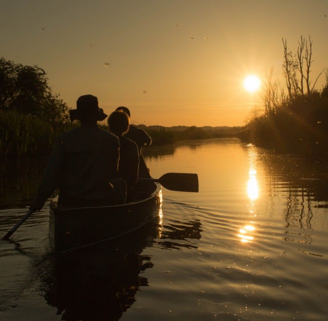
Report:
[{"label": "dark canoe hull with sunlit bow edge, carrying three people", "polygon": [[151,180],[137,183],[137,200],[124,205],[59,208],[50,204],[49,238],[56,251],[88,246],[118,238],[159,216],[162,186]]}]

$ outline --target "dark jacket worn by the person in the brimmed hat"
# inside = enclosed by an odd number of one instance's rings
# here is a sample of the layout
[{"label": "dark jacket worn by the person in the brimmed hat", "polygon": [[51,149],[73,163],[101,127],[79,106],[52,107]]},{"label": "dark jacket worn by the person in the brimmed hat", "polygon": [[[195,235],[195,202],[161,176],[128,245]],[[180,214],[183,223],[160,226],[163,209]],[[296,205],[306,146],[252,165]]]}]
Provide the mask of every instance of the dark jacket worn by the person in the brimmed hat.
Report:
[{"label": "dark jacket worn by the person in the brimmed hat", "polygon": [[109,181],[118,171],[119,140],[97,125],[62,134],[45,169],[37,199],[45,202],[56,188],[60,196],[100,200],[111,197]]}]

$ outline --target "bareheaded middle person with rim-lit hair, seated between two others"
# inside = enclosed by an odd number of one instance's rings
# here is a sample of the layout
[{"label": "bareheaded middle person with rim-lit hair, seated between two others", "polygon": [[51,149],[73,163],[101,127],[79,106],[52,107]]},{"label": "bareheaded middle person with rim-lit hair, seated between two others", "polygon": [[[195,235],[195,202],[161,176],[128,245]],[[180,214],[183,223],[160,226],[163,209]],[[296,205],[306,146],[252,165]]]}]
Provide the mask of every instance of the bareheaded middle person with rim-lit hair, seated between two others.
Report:
[{"label": "bareheaded middle person with rim-lit hair, seated between two others", "polygon": [[137,144],[123,136],[129,130],[130,119],[123,111],[113,111],[108,119],[109,130],[120,141],[120,160],[117,177],[122,178],[127,183],[127,199],[131,200],[134,192],[134,185],[138,179],[139,171],[139,151]]}]

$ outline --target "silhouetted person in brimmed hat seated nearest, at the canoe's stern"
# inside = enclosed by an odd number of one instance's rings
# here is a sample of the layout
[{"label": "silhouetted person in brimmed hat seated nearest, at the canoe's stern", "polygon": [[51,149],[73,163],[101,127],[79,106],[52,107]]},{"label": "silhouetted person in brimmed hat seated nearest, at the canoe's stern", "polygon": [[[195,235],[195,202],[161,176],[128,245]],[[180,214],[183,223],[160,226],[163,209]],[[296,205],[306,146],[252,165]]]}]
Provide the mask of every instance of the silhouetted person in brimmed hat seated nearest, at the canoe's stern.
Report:
[{"label": "silhouetted person in brimmed hat seated nearest, at the canoe's stern", "polygon": [[111,181],[118,171],[119,140],[97,126],[106,117],[97,97],[84,95],[77,100],[70,118],[80,120],[81,126],[58,138],[31,210],[41,210],[56,188],[60,190],[59,206],[124,203],[125,182]]}]

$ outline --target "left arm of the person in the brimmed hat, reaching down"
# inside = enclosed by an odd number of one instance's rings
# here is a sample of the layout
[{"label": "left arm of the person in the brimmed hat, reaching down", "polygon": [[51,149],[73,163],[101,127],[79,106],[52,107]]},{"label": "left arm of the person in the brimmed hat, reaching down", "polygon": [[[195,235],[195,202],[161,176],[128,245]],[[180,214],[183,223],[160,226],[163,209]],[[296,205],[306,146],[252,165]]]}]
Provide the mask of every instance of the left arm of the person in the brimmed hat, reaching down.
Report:
[{"label": "left arm of the person in the brimmed hat, reaching down", "polygon": [[58,139],[44,171],[37,197],[32,202],[30,210],[40,211],[45,205],[47,199],[54,193],[55,189],[59,186],[60,177],[65,162],[66,153],[64,149],[64,142],[61,139]]}]

